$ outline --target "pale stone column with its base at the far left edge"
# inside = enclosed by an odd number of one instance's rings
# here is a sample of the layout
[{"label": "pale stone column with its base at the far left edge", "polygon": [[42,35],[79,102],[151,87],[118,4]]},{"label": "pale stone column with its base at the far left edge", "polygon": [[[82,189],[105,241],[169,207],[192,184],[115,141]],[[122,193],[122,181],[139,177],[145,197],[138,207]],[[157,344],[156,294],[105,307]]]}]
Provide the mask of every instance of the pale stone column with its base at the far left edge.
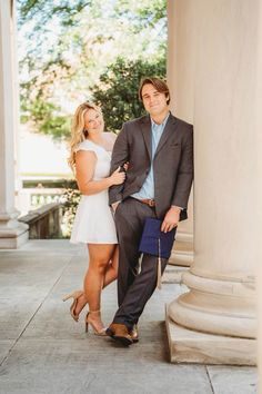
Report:
[{"label": "pale stone column with its base at the far left edge", "polygon": [[[28,239],[28,226],[14,208],[14,75],[12,1],[0,2],[0,248],[16,248]],[[17,114],[18,116],[18,114]]]}]

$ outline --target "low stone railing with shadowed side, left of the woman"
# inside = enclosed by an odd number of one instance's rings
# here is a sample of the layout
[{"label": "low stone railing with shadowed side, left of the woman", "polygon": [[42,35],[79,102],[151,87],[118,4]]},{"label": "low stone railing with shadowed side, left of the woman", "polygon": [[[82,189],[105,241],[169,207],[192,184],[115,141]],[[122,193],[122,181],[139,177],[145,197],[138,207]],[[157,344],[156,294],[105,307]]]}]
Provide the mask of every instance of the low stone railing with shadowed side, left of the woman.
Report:
[{"label": "low stone railing with shadowed side, left of the woman", "polygon": [[29,225],[30,239],[61,238],[62,204],[51,203],[41,208],[30,210],[19,221]]}]

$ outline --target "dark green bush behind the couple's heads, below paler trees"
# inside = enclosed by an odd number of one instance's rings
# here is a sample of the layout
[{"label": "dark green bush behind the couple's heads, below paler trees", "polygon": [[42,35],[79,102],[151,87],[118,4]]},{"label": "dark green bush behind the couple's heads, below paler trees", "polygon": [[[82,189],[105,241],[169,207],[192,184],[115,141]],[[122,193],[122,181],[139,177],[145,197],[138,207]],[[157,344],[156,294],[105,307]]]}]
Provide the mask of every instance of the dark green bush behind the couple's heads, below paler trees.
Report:
[{"label": "dark green bush behind the couple's heads, below paler trees", "polygon": [[142,78],[152,76],[165,78],[165,58],[154,62],[118,58],[100,76],[91,91],[93,101],[102,108],[107,130],[115,132],[124,121],[144,114],[138,88]]}]

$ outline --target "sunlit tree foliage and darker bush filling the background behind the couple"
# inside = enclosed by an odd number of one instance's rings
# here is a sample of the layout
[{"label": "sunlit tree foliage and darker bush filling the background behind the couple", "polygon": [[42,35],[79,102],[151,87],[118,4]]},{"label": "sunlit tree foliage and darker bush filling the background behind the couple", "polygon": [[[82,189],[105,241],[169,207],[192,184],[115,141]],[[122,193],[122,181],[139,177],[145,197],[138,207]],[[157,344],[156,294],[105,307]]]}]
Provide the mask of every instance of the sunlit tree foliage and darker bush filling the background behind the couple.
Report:
[{"label": "sunlit tree foliage and darker bush filling the background behind the couple", "polygon": [[[17,0],[17,3],[23,122],[34,131],[67,138],[72,112],[92,95],[102,104],[109,129],[117,130],[124,120],[141,115],[137,96],[140,76],[165,73],[153,65],[157,67],[155,59],[165,57],[167,0]],[[124,66],[115,62],[118,57],[125,59],[128,76],[132,62],[138,61],[130,83],[121,77],[125,83],[122,90],[121,78],[118,83],[117,77],[115,81],[103,77],[107,66],[113,63],[115,72],[111,70],[111,76],[121,76]],[[105,86],[117,89],[114,93],[112,89],[109,91],[111,102],[104,101]]]}]

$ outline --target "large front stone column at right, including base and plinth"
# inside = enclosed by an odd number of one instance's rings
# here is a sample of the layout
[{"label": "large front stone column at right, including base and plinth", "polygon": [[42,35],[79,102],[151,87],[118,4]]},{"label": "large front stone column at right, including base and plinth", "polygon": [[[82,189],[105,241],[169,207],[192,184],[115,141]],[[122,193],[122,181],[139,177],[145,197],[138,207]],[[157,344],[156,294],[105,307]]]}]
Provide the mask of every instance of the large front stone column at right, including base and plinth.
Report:
[{"label": "large front stone column at right, including base and plinth", "polygon": [[187,37],[194,43],[194,263],[183,276],[190,290],[168,308],[171,359],[252,365],[259,0],[174,3],[181,86]]}]

